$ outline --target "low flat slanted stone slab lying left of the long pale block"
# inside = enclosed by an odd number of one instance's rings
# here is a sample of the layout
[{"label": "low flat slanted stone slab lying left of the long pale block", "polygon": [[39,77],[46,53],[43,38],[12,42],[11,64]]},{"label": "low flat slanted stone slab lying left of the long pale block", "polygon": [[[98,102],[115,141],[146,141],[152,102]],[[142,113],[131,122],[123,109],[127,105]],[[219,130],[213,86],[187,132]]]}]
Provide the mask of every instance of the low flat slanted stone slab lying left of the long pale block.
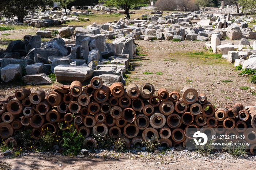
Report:
[{"label": "low flat slanted stone slab lying left of the long pale block", "polygon": [[52,84],[52,80],[44,73],[27,75],[22,77],[22,80],[27,84]]}]

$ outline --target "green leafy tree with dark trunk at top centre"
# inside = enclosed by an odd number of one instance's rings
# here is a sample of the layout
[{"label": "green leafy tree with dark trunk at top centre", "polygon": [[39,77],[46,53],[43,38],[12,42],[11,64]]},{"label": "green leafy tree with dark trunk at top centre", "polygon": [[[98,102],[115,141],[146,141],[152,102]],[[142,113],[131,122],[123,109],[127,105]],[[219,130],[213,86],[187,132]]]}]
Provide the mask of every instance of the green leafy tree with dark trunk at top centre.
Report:
[{"label": "green leafy tree with dark trunk at top centre", "polygon": [[[148,4],[150,4],[150,0],[106,0],[106,3],[110,3],[110,4],[116,4],[116,5],[123,5],[124,9],[125,9],[125,14],[127,16],[128,19],[130,19],[130,14],[129,14],[129,9],[131,8],[132,5],[137,5],[140,3],[144,3],[147,2]],[[153,0],[154,2],[156,0]]]}]

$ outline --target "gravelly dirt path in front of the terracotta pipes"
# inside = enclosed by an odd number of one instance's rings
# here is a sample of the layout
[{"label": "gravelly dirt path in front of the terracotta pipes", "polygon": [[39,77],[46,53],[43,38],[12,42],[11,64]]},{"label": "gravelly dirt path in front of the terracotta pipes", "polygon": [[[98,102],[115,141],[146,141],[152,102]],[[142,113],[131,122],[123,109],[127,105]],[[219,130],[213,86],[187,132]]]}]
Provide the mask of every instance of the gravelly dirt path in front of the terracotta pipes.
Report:
[{"label": "gravelly dirt path in front of the terracotta pipes", "polygon": [[[190,152],[190,154],[193,152]],[[124,154],[122,154],[124,155]],[[125,154],[128,155],[128,154]],[[16,158],[8,158],[7,156],[0,156],[0,160],[4,159],[4,162],[8,163],[13,170],[86,170],[86,169],[140,169],[140,170],[208,170],[208,169],[221,169],[221,170],[244,170],[255,169],[255,162],[250,161],[248,158],[219,158],[214,159],[211,156],[198,158],[192,158],[190,156],[181,156],[181,158],[171,158],[170,155],[155,156],[145,158],[140,155],[117,156],[113,159],[103,158],[101,156],[95,157],[94,154],[89,154],[84,158],[66,157],[55,154],[28,154],[26,156],[18,156]]]}]

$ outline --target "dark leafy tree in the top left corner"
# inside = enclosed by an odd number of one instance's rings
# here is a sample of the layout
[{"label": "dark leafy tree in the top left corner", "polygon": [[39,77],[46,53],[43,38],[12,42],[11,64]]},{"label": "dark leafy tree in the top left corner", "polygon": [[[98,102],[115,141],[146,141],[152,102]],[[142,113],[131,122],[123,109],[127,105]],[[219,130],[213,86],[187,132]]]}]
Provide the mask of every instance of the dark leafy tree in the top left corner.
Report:
[{"label": "dark leafy tree in the top left corner", "polygon": [[47,0],[0,0],[0,15],[10,18],[17,16],[23,22],[24,16],[37,9],[45,9]]}]

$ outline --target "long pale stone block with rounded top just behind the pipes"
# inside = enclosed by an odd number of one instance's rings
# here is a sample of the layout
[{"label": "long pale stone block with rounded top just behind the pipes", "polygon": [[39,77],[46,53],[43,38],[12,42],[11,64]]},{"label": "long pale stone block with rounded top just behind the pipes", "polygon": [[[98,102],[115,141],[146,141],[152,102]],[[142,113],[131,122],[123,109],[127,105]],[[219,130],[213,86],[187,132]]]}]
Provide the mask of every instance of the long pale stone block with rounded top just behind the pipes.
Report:
[{"label": "long pale stone block with rounded top just behind the pipes", "polygon": [[54,68],[56,81],[80,81],[90,79],[93,76],[93,69],[87,66],[59,65]]}]

